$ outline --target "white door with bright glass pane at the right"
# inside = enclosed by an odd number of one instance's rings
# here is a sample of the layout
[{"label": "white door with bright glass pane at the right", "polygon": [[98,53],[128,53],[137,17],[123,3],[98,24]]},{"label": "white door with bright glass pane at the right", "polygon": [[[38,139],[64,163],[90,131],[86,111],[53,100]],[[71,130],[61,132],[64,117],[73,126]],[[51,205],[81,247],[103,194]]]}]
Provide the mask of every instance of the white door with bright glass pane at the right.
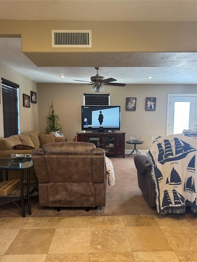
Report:
[{"label": "white door with bright glass pane at the right", "polygon": [[196,100],[196,94],[168,94],[167,135],[197,128]]}]

